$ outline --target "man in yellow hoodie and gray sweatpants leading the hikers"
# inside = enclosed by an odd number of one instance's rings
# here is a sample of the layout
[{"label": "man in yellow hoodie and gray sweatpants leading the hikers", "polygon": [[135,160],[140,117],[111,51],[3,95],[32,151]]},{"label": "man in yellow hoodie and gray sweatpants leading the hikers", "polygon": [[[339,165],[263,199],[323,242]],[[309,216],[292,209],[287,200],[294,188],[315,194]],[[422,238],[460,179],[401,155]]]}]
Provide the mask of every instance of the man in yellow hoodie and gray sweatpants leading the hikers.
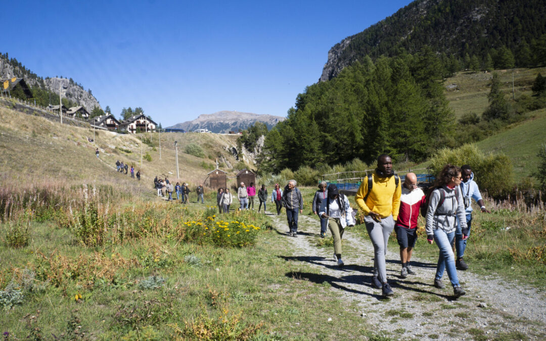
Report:
[{"label": "man in yellow hoodie and gray sweatpants leading the hikers", "polygon": [[372,285],[382,289],[383,296],[394,295],[387,283],[385,254],[389,235],[393,232],[394,222],[398,218],[400,194],[400,179],[394,174],[393,160],[387,154],[379,155],[376,170],[364,178],[355,201],[366,215],[364,223],[375,252]]}]

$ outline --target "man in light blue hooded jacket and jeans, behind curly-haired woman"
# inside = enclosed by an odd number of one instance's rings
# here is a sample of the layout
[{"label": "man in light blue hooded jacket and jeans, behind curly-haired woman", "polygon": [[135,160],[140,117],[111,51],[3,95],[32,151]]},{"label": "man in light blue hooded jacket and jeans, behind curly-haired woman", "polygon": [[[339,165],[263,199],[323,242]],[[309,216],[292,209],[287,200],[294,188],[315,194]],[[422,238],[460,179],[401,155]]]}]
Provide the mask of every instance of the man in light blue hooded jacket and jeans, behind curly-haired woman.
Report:
[{"label": "man in light blue hooded jacket and jeans, behind curly-haired woman", "polygon": [[[466,240],[470,237],[470,226],[472,226],[472,205],[470,205],[470,199],[474,199],[482,212],[490,213],[484,205],[482,194],[479,193],[478,184],[474,182],[474,173],[472,172],[472,167],[469,165],[461,166],[461,176],[462,182],[460,184],[462,200],[465,205],[465,214],[466,214],[466,226],[467,230],[463,231],[461,229],[461,224],[459,219],[457,219],[457,229],[455,230],[455,249],[457,251],[457,260],[455,261],[455,267],[458,270],[466,270],[468,265],[465,261],[462,260],[465,255],[466,249]],[[466,237],[464,237],[466,236]]]}]

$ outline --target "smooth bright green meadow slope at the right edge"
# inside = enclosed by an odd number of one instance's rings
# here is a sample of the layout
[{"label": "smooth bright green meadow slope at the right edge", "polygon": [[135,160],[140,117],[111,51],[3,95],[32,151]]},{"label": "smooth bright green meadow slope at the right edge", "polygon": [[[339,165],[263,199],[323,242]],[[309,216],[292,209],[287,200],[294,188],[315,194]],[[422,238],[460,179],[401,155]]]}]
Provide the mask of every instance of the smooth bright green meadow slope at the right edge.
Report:
[{"label": "smooth bright green meadow slope at the right edge", "polygon": [[532,176],[539,161],[539,146],[546,142],[546,109],[529,115],[533,117],[477,142],[484,152],[506,154],[512,160],[516,178]]}]

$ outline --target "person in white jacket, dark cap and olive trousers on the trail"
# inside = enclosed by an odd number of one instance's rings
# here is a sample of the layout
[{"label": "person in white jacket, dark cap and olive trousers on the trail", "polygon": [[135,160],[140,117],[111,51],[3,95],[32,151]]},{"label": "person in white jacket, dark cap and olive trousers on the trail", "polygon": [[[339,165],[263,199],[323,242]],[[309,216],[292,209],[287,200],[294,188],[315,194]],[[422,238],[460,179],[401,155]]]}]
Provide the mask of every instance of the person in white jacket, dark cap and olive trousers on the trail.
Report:
[{"label": "person in white jacket, dark cap and olive trousers on the trail", "polygon": [[334,236],[334,259],[338,266],[343,266],[341,260],[341,238],[347,225],[354,226],[352,213],[347,196],[340,194],[335,184],[328,186],[328,197],[321,202],[318,216],[326,219],[328,228]]}]

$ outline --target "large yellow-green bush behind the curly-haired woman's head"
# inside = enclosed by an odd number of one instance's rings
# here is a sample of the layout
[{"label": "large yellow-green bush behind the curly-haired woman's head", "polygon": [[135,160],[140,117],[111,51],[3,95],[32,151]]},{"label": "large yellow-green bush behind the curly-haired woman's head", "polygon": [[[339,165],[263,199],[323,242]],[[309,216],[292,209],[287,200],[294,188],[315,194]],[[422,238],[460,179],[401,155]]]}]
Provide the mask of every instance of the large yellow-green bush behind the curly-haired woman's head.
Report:
[{"label": "large yellow-green bush behind the curly-haired woman's head", "polygon": [[437,175],[446,164],[459,167],[470,165],[480,190],[486,190],[495,199],[507,194],[513,187],[512,161],[504,154],[485,156],[473,144],[440,149],[430,160],[432,174]]}]

